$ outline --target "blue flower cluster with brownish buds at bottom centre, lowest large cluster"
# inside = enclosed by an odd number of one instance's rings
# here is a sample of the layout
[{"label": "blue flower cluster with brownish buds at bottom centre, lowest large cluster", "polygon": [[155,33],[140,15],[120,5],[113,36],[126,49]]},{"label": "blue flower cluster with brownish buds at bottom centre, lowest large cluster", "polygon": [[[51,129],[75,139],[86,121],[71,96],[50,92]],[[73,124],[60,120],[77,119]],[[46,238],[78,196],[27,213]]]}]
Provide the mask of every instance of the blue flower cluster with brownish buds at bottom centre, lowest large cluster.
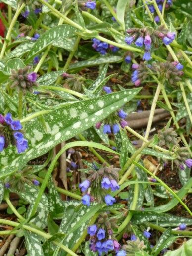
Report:
[{"label": "blue flower cluster with brownish buds at bottom centre, lowest large cluster", "polygon": [[99,216],[96,224],[88,227],[90,235],[90,249],[93,252],[108,253],[109,251],[118,251],[120,244],[113,235],[113,228],[117,228],[116,219],[108,218],[107,213]]}]

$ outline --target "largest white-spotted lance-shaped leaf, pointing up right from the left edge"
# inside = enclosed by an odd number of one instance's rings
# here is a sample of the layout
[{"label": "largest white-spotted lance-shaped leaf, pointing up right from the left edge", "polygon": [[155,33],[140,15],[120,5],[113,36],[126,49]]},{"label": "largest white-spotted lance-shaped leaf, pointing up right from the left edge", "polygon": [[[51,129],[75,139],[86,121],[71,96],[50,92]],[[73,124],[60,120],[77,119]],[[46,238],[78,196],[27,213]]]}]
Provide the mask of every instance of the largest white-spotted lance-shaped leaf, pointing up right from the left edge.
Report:
[{"label": "largest white-spotted lance-shaped leaf, pointing up right from the left edge", "polygon": [[31,159],[47,153],[55,145],[103,120],[134,98],[140,90],[137,88],[107,94],[51,111],[44,115],[46,129],[38,118],[26,123],[24,130],[29,148],[24,154],[17,154],[15,146],[9,146],[0,153],[0,178],[21,169]]}]

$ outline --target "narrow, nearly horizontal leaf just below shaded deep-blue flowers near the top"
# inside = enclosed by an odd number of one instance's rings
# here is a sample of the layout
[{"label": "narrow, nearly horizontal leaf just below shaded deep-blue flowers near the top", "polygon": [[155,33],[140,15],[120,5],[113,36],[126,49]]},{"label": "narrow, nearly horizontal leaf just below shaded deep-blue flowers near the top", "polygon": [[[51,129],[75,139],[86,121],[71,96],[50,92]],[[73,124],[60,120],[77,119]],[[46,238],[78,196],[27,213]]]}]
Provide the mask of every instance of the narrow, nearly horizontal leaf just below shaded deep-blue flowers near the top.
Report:
[{"label": "narrow, nearly horizontal leaf just below shaded deep-blue flowers near the top", "polygon": [[122,61],[122,57],[119,56],[109,56],[109,57],[99,57],[96,59],[79,61],[77,63],[71,64],[68,68],[68,71],[73,71],[75,69],[83,69],[85,67],[96,66],[100,64],[113,63]]}]

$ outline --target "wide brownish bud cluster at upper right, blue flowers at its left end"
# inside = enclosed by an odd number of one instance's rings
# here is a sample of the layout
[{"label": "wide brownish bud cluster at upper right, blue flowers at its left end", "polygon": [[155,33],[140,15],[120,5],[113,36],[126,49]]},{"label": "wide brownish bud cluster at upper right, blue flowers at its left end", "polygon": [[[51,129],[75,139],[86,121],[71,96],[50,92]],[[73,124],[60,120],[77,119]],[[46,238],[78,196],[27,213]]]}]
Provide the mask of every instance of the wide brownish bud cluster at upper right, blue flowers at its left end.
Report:
[{"label": "wide brownish bud cluster at upper right, blue flowers at its left end", "polygon": [[156,75],[160,81],[166,79],[171,85],[175,85],[181,80],[183,75],[183,65],[178,61],[165,62],[165,63],[152,63],[151,65],[146,65],[145,63],[133,64],[132,68],[134,72],[131,75],[131,80],[135,86],[139,86],[142,80],[145,80],[151,71]]}]

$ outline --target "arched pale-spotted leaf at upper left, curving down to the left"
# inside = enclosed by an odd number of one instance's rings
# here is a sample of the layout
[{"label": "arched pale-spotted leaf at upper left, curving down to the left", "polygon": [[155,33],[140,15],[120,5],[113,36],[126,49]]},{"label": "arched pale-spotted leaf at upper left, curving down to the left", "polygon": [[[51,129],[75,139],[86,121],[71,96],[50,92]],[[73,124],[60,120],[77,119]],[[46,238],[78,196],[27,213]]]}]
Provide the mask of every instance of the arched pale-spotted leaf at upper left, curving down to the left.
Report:
[{"label": "arched pale-spotted leaf at upper left, curving down to the left", "polygon": [[70,25],[59,25],[50,28],[35,42],[32,49],[28,53],[27,63],[36,56],[38,53],[43,51],[48,45],[54,44],[55,42],[71,36],[76,29]]}]

